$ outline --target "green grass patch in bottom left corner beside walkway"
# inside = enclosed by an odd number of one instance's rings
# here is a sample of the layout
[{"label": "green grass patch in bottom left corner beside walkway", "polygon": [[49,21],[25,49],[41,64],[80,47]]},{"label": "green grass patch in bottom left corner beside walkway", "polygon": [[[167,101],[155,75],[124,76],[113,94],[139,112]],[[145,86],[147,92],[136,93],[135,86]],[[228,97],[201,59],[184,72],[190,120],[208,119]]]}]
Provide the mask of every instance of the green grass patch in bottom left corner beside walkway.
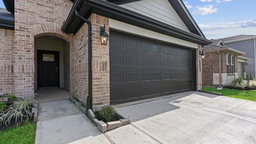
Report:
[{"label": "green grass patch in bottom left corner beside walkway", "polygon": [[36,125],[29,123],[0,132],[0,144],[34,144]]}]

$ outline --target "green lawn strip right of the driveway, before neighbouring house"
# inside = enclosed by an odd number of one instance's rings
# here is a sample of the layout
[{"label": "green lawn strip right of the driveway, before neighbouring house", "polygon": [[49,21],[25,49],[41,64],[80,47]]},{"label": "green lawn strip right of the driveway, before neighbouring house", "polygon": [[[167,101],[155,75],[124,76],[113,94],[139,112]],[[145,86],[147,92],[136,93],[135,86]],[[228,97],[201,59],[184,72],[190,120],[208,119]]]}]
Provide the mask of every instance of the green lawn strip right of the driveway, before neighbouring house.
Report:
[{"label": "green lawn strip right of the driveway, before neighbouring house", "polygon": [[236,90],[223,88],[216,90],[214,87],[203,87],[203,91],[221,93],[223,96],[256,101],[256,90]]}]

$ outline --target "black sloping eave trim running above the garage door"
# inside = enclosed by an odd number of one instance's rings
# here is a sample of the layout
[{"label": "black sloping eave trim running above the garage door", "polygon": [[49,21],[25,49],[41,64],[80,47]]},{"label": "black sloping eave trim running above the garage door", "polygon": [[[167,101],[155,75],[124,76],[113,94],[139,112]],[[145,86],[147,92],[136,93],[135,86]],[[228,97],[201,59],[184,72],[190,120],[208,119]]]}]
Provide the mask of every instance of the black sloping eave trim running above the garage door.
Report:
[{"label": "black sloping eave trim running above the garage door", "polygon": [[75,0],[71,12],[61,26],[62,32],[76,34],[85,23],[76,13],[85,18],[89,18],[92,13],[97,13],[98,15],[116,21],[131,24],[166,36],[193,42],[195,44],[207,45],[212,43],[212,41],[206,39],[204,36],[196,35],[172,25],[162,23],[138,12],[122,8],[121,6],[106,0]]}]

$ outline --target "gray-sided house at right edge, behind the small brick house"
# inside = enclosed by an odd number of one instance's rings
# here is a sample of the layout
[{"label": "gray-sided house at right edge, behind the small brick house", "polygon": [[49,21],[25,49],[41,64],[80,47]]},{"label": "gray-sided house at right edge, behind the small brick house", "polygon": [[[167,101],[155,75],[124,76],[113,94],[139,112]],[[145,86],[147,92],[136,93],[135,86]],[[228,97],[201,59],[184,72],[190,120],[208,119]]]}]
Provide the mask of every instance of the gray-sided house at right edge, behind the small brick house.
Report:
[{"label": "gray-sided house at right edge, behind the small brick house", "polygon": [[246,61],[246,72],[252,72],[252,76],[256,78],[256,35],[239,35],[222,38],[227,47],[244,51],[244,57],[251,60]]}]

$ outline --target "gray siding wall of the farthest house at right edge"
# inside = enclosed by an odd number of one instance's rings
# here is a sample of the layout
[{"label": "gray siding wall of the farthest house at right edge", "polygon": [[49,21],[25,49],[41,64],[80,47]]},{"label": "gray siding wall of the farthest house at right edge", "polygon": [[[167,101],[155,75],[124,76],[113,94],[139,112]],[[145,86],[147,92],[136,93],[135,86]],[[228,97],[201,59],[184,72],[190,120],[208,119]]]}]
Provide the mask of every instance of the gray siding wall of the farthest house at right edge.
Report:
[{"label": "gray siding wall of the farthest house at right edge", "polygon": [[247,66],[245,67],[245,72],[252,72],[253,77],[255,78],[255,60],[254,60],[254,40],[244,40],[232,43],[225,43],[227,47],[234,48],[240,51],[245,52],[246,54],[243,57],[249,58],[247,60]]}]

